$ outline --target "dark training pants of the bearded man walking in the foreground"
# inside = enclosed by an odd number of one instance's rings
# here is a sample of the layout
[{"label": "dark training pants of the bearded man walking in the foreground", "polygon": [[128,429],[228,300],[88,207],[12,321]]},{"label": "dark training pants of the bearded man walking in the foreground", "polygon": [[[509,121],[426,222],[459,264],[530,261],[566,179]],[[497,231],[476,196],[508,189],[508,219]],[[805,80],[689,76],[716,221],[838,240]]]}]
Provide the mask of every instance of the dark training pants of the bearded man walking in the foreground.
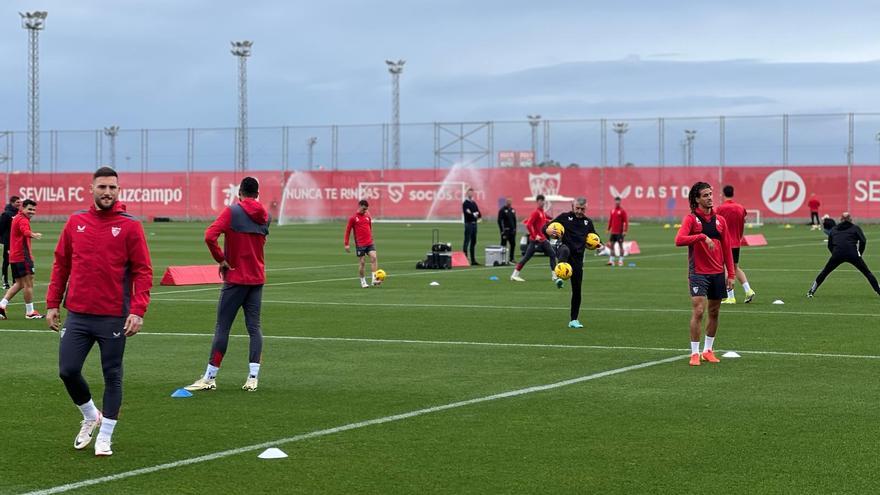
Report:
[{"label": "dark training pants of the bearded man walking in the foreground", "polygon": [[122,356],[125,353],[125,318],[68,312],[61,328],[58,347],[58,375],[74,404],[91,400],[89,385],[82,376],[83,363],[95,342],[101,350],[104,371],[105,418],[116,419],[122,406]]}]

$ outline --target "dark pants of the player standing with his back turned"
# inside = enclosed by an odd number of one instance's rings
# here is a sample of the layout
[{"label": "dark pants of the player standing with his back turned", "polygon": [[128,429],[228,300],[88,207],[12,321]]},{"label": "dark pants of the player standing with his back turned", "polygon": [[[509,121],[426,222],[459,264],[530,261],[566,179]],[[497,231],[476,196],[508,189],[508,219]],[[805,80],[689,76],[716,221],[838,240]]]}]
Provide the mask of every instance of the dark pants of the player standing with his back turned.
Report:
[{"label": "dark pants of the player standing with his back turned", "polygon": [[249,363],[259,363],[263,355],[263,333],[260,330],[260,308],[263,303],[262,285],[223,284],[220,302],[217,303],[217,326],[214,328],[214,341],[211,343],[209,362],[220,367],[226,347],[229,345],[229,331],[240,308],[244,309],[244,325],[250,336]]}]

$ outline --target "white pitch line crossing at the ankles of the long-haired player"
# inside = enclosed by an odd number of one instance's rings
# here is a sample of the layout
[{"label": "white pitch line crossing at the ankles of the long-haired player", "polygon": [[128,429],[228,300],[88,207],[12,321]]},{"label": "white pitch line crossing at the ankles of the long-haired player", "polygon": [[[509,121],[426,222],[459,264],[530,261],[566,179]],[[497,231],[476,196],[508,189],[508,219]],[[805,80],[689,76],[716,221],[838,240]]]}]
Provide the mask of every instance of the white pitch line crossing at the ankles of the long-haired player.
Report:
[{"label": "white pitch line crossing at the ankles of the long-haired player", "polygon": [[[0,333],[53,333],[51,330],[31,329],[0,329]],[[197,332],[139,332],[139,335],[150,337],[200,337],[213,338],[213,333]],[[249,338],[247,335],[232,334],[230,338]],[[519,342],[471,342],[458,340],[417,340],[417,339],[374,339],[361,337],[309,337],[298,335],[263,335],[264,339],[271,340],[300,340],[317,342],[359,342],[366,344],[413,344],[413,345],[440,345],[440,346],[477,346],[477,347],[514,347],[514,348],[538,348],[538,349],[587,349],[602,351],[660,351],[660,352],[686,352],[686,348],[674,347],[637,347],[637,346],[612,346],[612,345],[575,345],[575,344],[530,344]],[[794,357],[822,357],[822,358],[848,358],[848,359],[880,359],[872,354],[839,354],[822,352],[791,352],[791,351],[750,351],[741,349],[719,349],[718,352],[735,350],[743,354],[760,354],[773,356]]]}]

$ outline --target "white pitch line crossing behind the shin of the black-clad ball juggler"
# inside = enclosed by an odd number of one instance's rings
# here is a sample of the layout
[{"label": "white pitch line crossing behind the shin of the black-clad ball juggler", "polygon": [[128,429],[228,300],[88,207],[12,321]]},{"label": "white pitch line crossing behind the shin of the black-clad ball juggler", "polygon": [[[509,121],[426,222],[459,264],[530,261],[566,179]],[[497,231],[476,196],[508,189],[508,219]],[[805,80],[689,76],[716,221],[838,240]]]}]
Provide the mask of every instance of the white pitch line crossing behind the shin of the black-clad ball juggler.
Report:
[{"label": "white pitch line crossing behind the shin of the black-clad ball juggler", "polygon": [[[216,299],[184,299],[184,298],[153,298],[160,302],[193,302],[217,304]],[[490,305],[490,304],[428,304],[428,303],[359,303],[340,301],[278,301],[263,299],[266,304],[294,304],[302,306],[363,306],[363,307],[387,307],[387,308],[440,308],[440,309],[491,309],[491,310],[567,310],[568,306],[514,306],[514,305]],[[588,307],[587,311],[604,311],[618,313],[691,313],[690,309],[678,308],[602,308]],[[858,318],[880,318],[880,313],[833,313],[822,311],[761,311],[749,309],[725,309],[725,315],[729,314],[753,314],[771,316],[851,316]]]}]

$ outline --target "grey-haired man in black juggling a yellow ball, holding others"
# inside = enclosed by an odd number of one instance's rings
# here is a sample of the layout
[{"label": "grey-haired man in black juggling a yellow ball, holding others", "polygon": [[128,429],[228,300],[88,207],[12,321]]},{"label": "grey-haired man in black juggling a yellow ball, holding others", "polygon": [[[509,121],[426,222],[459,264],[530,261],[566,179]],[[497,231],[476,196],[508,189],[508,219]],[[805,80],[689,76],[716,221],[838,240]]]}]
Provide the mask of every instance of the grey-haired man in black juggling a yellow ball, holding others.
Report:
[{"label": "grey-haired man in black juggling a yellow ball, holding others", "polygon": [[[568,323],[568,327],[584,328],[583,324],[578,321],[578,313],[581,310],[581,285],[584,280],[584,250],[587,247],[587,234],[595,234],[596,227],[593,225],[593,221],[587,217],[586,198],[575,199],[571,204],[571,209],[572,211],[553,219],[553,222],[561,223],[565,229],[556,255],[560,263],[571,265],[571,321]],[[549,225],[545,233],[550,237],[559,235],[559,232]]]}]

